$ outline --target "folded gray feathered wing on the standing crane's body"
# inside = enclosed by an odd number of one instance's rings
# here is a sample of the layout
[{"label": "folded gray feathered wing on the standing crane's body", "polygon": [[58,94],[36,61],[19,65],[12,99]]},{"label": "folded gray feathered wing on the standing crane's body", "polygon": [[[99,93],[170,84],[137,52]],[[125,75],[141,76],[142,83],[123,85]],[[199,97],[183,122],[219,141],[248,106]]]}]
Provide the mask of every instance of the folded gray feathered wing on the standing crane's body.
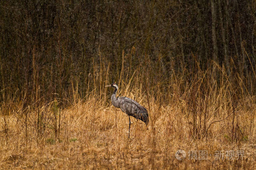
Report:
[{"label": "folded gray feathered wing on the standing crane's body", "polygon": [[145,107],[127,97],[118,97],[118,101],[123,112],[136,119],[142,120],[146,125],[148,124],[148,113]]}]

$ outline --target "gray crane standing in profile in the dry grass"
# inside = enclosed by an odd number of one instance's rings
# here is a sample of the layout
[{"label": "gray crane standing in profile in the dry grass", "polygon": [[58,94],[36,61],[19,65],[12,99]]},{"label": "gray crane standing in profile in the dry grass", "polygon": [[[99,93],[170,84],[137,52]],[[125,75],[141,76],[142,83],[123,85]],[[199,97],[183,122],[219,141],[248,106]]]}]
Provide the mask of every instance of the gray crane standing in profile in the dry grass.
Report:
[{"label": "gray crane standing in profile in the dry grass", "polygon": [[143,106],[140,106],[139,103],[136,101],[127,98],[127,97],[116,97],[116,92],[118,90],[118,86],[116,83],[112,83],[105,87],[113,87],[114,92],[111,96],[111,102],[114,107],[120,108],[123,112],[125,112],[129,117],[129,135],[130,138],[130,127],[131,127],[131,120],[130,116],[135,117],[136,119],[142,120],[146,125],[148,124],[148,113],[147,109]]}]

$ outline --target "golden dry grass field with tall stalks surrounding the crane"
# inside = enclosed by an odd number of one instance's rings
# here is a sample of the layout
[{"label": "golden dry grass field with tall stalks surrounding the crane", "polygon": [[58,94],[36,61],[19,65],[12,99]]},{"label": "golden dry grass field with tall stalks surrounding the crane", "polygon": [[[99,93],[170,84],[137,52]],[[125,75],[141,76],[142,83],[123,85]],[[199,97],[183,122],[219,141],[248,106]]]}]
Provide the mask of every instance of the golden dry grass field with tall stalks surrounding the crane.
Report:
[{"label": "golden dry grass field with tall stalks surrounding the crane", "polygon": [[[123,54],[118,95],[135,99],[150,116],[147,127],[131,119],[128,139],[128,117],[111,105],[112,89],[105,88],[113,81],[111,68],[99,57],[84,79],[86,95],[77,78],[69,91],[59,86],[59,94],[41,96],[36,64],[31,95],[26,89],[18,99],[5,94],[1,169],[255,169],[256,100],[246,88],[254,86],[253,75],[245,79],[235,66],[227,75],[224,66],[210,61],[203,71],[196,60],[191,69],[165,74],[160,59],[144,56],[132,68]],[[187,153],[183,161],[175,157],[179,149]],[[189,151],[200,150],[208,151],[207,160],[189,159]],[[216,151],[230,150],[243,150],[244,157],[215,160]]]}]

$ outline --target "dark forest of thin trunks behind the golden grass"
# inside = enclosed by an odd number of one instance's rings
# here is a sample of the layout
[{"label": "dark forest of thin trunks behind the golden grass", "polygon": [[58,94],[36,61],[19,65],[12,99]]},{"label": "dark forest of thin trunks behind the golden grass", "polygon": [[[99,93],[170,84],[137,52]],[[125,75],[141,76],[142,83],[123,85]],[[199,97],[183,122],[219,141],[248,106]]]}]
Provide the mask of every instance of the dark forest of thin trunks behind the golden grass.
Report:
[{"label": "dark forest of thin trunks behind the golden grass", "polygon": [[255,95],[255,8],[254,0],[0,1],[0,101],[74,91],[100,99],[106,84],[136,76],[164,96],[174,79],[185,88],[207,70]]}]

